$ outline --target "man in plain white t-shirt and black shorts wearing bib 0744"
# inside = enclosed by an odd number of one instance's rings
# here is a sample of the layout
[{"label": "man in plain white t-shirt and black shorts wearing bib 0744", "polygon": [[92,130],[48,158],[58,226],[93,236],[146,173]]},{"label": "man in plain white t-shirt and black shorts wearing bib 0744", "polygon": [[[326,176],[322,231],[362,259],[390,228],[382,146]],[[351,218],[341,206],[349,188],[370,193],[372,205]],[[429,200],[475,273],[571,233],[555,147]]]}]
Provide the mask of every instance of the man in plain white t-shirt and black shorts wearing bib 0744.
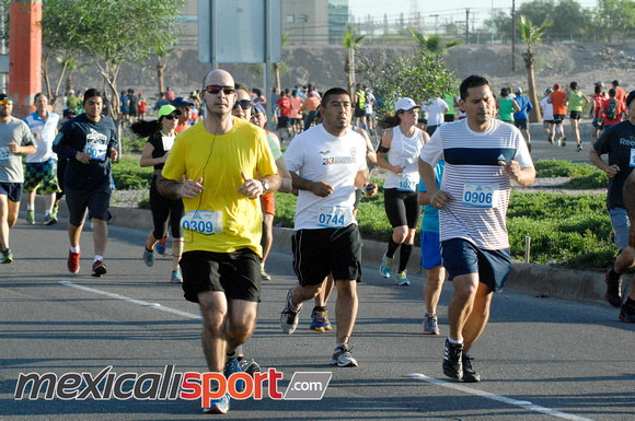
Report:
[{"label": "man in plain white t-shirt and black shorts wearing bib 0744", "polygon": [[357,318],[356,280],[361,270],[361,237],[353,217],[355,188],[369,183],[366,141],[349,129],[353,107],[347,91],[324,94],[324,122],[293,138],[285,161],[299,190],[292,241],[298,284],[287,294],[280,326],[291,335],[302,303],[314,299],[330,273],[337,288],[337,337],[332,365],[357,366],[348,340]]}]

